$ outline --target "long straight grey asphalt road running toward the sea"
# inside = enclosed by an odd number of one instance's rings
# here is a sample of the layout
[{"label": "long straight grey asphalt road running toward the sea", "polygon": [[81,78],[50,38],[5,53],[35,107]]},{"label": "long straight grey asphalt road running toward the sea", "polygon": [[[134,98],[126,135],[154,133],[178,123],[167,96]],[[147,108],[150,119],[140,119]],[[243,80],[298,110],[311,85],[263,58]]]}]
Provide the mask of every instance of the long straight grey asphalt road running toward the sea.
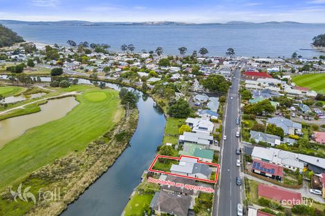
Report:
[{"label": "long straight grey asphalt road running toward the sea", "polygon": [[[243,63],[241,63],[243,66]],[[237,215],[237,204],[241,203],[241,193],[239,186],[236,185],[236,177],[239,176],[239,167],[236,166],[236,148],[239,147],[239,139],[235,136],[239,131],[236,125],[236,117],[239,113],[239,76],[240,70],[234,72],[235,79],[232,79],[232,88],[228,94],[228,105],[225,112],[224,140],[221,148],[221,173],[219,180],[219,190],[216,190],[214,200],[213,215],[235,216]],[[232,97],[232,99],[231,99]]]}]

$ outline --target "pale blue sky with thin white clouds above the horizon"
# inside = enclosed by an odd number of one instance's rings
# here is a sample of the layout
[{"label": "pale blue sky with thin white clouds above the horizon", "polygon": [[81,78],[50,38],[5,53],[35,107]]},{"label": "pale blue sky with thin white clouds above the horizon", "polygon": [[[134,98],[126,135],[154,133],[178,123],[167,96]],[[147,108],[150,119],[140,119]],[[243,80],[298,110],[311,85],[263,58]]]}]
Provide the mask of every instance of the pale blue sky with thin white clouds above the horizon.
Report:
[{"label": "pale blue sky with thin white clouds above the horizon", "polygon": [[0,19],[325,23],[325,0],[0,0]]}]

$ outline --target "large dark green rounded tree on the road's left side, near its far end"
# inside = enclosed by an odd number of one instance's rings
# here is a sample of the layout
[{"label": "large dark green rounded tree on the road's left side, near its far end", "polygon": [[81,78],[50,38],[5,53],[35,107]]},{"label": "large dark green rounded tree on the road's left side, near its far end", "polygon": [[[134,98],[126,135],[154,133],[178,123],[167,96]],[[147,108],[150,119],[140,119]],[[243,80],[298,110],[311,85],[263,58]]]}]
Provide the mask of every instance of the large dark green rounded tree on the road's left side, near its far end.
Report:
[{"label": "large dark green rounded tree on the road's left side, near its far end", "polygon": [[227,92],[231,82],[221,75],[210,75],[202,81],[202,84],[204,88],[210,91]]}]

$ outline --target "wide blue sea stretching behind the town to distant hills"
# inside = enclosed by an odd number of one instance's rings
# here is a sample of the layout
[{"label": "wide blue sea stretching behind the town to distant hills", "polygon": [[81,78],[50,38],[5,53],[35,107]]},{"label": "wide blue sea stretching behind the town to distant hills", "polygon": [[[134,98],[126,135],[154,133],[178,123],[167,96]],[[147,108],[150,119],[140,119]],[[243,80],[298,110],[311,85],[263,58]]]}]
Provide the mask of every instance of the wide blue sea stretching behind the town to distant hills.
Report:
[{"label": "wide blue sea stretching behind the town to distant hills", "polygon": [[[163,47],[165,54],[176,55],[180,46],[187,54],[205,47],[208,55],[225,55],[234,48],[236,55],[247,57],[290,57],[297,51],[303,57],[324,55],[312,50],[313,37],[325,33],[325,24],[232,24],[205,26],[32,26],[6,25],[26,41],[66,45],[108,43],[112,51],[132,43],[136,51]],[[301,50],[307,49],[307,50]]]}]

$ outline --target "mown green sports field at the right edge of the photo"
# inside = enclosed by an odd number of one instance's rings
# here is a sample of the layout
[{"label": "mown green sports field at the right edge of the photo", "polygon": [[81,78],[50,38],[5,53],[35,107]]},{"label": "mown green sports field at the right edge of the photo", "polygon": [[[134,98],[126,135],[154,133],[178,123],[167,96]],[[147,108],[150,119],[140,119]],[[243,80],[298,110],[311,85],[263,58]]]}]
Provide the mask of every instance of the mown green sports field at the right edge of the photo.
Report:
[{"label": "mown green sports field at the right edge of the photo", "polygon": [[325,73],[293,77],[293,82],[297,86],[310,88],[310,90],[325,94]]}]

